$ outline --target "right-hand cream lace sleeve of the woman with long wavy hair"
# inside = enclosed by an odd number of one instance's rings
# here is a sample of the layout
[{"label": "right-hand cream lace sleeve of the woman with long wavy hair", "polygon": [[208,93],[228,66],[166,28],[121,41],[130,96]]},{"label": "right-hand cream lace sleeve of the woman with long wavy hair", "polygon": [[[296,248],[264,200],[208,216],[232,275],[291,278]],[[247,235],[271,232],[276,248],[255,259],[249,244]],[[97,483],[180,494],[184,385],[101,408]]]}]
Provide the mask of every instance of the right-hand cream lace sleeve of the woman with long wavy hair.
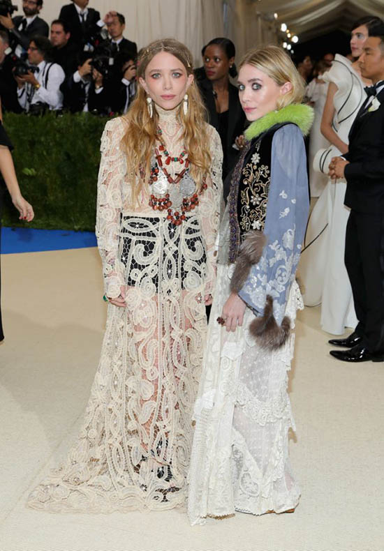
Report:
[{"label": "right-hand cream lace sleeve of the woman with long wavy hair", "polygon": [[212,156],[211,171],[207,179],[207,189],[200,197],[200,216],[202,233],[207,248],[207,280],[205,294],[212,294],[216,278],[216,236],[219,231],[221,198],[223,181],[221,169],[223,166],[223,149],[219,134],[210,126],[210,151]]}]

